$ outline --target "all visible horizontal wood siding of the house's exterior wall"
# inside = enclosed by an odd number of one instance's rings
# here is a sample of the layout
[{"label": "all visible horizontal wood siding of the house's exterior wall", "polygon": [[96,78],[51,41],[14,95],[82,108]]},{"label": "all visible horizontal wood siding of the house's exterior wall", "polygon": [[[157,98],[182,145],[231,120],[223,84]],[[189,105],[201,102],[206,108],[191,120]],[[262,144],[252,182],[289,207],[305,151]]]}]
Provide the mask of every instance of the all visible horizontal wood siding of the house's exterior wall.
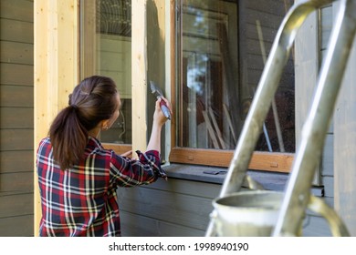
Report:
[{"label": "all visible horizontal wood siding of the house's exterior wall", "polygon": [[[34,33],[32,0],[1,0],[0,6],[0,236],[34,232]],[[321,12],[323,56],[333,7]],[[353,62],[355,59],[352,60]],[[324,199],[334,204],[334,128],[330,127],[320,164]],[[148,187],[119,189],[124,236],[203,236],[212,199],[221,180],[172,177]],[[4,206],[5,205],[5,206]],[[308,212],[303,235],[330,236],[319,215]]]}]

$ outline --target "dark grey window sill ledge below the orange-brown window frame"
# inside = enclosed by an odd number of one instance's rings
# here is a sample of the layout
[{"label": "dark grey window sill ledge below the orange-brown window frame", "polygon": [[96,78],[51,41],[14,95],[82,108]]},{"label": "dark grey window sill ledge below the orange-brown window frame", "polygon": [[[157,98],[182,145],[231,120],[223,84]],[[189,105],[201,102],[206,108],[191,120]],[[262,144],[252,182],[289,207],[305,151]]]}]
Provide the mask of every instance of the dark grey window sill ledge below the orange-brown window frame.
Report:
[{"label": "dark grey window sill ledge below the orange-brown window frame", "polygon": [[[227,169],[218,167],[206,167],[185,164],[163,165],[168,178],[202,181],[207,183],[223,184]],[[284,191],[289,175],[278,172],[265,172],[247,170],[247,175],[256,180],[267,190]],[[317,197],[323,197],[323,187],[313,187],[311,193]]]}]

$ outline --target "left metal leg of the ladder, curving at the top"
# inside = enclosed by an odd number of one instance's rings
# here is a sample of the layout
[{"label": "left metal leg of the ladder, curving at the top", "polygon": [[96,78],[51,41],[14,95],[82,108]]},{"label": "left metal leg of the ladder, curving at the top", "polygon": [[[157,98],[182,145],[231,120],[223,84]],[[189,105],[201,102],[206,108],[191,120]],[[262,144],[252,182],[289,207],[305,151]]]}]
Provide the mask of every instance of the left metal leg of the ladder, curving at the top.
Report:
[{"label": "left metal leg of the ladder, curving at the top", "polygon": [[[246,169],[256,148],[268,109],[276,94],[283,67],[287,63],[298,28],[311,12],[331,2],[332,0],[298,1],[298,4],[293,5],[283,19],[258,83],[257,92],[246,117],[246,123],[236,145],[234,157],[230,163],[220,197],[241,189],[246,176]],[[214,215],[214,211],[212,215]],[[205,233],[206,236],[213,235],[214,220],[214,217],[212,217]]]}]

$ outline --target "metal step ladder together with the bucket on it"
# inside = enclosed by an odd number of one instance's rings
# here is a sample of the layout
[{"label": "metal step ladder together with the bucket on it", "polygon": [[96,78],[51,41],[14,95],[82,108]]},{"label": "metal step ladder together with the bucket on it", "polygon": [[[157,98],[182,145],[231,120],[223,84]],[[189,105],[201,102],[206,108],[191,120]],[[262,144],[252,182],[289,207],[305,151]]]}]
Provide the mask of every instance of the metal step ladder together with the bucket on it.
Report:
[{"label": "metal step ladder together with the bucket on it", "polygon": [[[254,189],[253,187],[258,187],[256,182],[246,175],[298,28],[310,13],[332,2],[334,1],[298,1],[283,19],[223,187],[219,197],[213,202],[214,210],[205,236],[300,236],[307,209],[314,210],[327,219],[333,236],[350,236],[336,211],[322,199],[312,196],[310,188],[356,35],[356,0],[340,0],[329,50],[319,72],[316,96],[302,128],[286,190],[272,192]],[[240,190],[245,181],[251,185],[251,190]],[[246,208],[250,209],[248,213]]]}]

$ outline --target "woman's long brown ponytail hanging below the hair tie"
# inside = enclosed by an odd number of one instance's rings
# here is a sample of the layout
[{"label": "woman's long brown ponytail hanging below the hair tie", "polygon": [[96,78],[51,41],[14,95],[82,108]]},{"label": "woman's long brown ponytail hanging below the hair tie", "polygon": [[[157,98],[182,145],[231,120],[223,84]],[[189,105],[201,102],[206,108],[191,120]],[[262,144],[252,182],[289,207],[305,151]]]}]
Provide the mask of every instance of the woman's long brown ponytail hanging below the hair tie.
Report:
[{"label": "woman's long brown ponytail hanging below the hair tie", "polygon": [[87,146],[88,131],[80,124],[78,112],[76,106],[64,108],[49,129],[53,158],[61,169],[78,164]]}]

